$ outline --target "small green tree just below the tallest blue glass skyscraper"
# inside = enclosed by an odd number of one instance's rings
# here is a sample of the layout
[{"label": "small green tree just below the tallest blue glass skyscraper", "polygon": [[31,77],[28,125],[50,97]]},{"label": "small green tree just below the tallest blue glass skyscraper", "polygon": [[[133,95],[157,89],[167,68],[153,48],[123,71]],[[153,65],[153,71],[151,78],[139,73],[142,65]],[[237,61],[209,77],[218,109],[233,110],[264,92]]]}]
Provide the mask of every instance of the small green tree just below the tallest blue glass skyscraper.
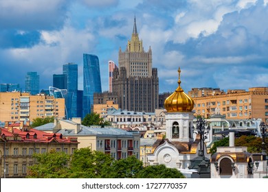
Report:
[{"label": "small green tree just below the tallest blue glass skyscraper", "polygon": [[104,121],[104,119],[100,117],[100,114],[96,112],[91,112],[87,114],[86,117],[82,120],[82,125],[101,125],[102,127],[104,127],[104,125],[111,125],[111,123],[109,121]]}]

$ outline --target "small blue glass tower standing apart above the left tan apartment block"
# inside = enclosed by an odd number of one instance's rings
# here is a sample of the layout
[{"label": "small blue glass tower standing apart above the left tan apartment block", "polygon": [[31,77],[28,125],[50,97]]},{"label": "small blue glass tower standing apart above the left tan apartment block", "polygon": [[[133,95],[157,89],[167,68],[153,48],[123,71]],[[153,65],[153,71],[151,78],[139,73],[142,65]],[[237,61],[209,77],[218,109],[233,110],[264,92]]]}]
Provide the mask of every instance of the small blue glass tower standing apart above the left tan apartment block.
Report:
[{"label": "small blue glass tower standing apart above the left tan apartment block", "polygon": [[37,72],[27,72],[25,77],[25,92],[29,92],[31,95],[39,93],[39,75],[37,75]]}]

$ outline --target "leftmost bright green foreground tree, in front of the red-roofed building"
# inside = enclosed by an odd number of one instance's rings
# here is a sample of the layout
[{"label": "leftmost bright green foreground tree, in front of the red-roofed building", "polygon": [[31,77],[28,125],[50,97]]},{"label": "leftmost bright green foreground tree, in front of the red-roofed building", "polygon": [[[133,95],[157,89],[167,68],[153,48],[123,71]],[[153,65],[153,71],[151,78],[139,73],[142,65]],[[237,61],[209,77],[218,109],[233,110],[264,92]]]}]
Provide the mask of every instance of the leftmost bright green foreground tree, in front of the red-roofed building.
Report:
[{"label": "leftmost bright green foreground tree, in front of the red-roofed building", "polygon": [[64,152],[52,150],[46,154],[34,154],[37,164],[29,167],[28,178],[67,178],[69,169],[67,164],[70,156]]}]

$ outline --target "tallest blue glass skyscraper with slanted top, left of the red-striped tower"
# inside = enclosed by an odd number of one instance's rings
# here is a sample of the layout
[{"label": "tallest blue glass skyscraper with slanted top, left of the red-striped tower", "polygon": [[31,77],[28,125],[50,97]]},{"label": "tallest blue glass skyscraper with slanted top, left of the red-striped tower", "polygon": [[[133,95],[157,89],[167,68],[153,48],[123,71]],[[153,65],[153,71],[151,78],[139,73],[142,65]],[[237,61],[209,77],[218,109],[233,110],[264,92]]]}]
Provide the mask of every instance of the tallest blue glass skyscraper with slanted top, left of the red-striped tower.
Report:
[{"label": "tallest blue glass skyscraper with slanted top, left of the red-striped tower", "polygon": [[100,64],[98,56],[83,54],[84,62],[84,92],[83,92],[83,118],[91,113],[93,106],[93,93],[102,93],[100,81]]}]

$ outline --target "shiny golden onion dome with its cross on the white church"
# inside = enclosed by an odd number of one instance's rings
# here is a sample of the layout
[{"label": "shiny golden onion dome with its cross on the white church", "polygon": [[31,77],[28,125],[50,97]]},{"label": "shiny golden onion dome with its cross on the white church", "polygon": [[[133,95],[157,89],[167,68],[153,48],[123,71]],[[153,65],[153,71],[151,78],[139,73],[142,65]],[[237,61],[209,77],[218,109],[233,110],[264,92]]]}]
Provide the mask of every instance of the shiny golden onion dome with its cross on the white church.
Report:
[{"label": "shiny golden onion dome with its cross on the white church", "polygon": [[164,107],[167,112],[192,112],[194,108],[194,99],[183,92],[181,88],[181,69],[178,70],[179,81],[178,88],[168,98],[166,98]]}]

